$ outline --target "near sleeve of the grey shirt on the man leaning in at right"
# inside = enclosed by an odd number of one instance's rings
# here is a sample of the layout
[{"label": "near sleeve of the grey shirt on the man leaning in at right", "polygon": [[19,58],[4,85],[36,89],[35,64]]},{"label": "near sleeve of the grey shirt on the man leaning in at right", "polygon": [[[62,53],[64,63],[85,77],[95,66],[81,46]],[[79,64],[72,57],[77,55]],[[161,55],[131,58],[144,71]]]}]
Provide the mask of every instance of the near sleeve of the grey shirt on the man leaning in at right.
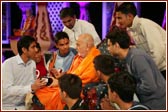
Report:
[{"label": "near sleeve of the grey shirt on the man leaning in at right", "polygon": [[134,56],[131,68],[137,80],[137,93],[151,95],[157,89],[157,85],[150,63],[142,55]]}]

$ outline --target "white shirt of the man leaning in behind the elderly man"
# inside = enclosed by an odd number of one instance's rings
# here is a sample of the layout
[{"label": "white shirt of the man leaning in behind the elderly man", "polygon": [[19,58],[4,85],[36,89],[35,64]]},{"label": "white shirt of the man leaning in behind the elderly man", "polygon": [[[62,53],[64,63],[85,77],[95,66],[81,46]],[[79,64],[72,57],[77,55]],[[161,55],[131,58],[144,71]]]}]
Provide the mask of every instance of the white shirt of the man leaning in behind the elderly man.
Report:
[{"label": "white shirt of the man leaning in behind the elderly man", "polygon": [[70,40],[70,47],[73,48],[76,48],[76,40],[78,39],[78,36],[84,33],[88,33],[93,36],[95,46],[97,46],[101,42],[95,30],[95,27],[91,23],[84,20],[76,19],[75,25],[72,29],[69,29],[66,26],[64,26],[63,31],[68,34]]}]

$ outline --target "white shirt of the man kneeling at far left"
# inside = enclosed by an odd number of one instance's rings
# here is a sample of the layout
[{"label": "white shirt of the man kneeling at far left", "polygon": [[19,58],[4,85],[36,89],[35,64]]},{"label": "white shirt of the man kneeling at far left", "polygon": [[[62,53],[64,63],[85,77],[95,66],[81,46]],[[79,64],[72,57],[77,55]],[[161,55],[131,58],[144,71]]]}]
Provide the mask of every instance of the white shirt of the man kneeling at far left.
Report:
[{"label": "white shirt of the man kneeling at far left", "polygon": [[24,63],[19,55],[2,64],[2,109],[25,109],[24,101],[36,78],[36,64]]}]

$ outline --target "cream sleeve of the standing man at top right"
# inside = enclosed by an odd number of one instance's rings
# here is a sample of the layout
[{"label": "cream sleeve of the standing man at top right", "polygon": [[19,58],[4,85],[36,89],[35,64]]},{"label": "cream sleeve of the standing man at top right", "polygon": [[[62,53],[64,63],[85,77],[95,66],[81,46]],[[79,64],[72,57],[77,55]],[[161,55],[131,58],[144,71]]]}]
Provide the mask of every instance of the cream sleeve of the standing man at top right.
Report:
[{"label": "cream sleeve of the standing man at top right", "polygon": [[144,37],[146,37],[150,55],[157,67],[159,67],[160,62],[162,62],[166,56],[166,41],[163,39],[166,38],[166,34],[164,34],[166,32],[164,32],[159,26],[152,24],[141,26],[141,30]]}]

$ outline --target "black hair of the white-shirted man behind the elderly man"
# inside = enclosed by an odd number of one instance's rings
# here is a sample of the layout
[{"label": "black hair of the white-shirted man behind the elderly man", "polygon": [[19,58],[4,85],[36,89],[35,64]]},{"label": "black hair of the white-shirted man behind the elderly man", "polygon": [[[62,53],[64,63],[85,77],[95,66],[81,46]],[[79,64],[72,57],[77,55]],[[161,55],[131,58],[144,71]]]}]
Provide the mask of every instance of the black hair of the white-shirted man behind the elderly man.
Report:
[{"label": "black hair of the white-shirted man behind the elderly man", "polygon": [[63,8],[61,11],[60,11],[60,18],[63,19],[65,17],[74,17],[75,16],[75,12],[73,10],[73,8],[71,7],[66,7],[66,8]]}]

